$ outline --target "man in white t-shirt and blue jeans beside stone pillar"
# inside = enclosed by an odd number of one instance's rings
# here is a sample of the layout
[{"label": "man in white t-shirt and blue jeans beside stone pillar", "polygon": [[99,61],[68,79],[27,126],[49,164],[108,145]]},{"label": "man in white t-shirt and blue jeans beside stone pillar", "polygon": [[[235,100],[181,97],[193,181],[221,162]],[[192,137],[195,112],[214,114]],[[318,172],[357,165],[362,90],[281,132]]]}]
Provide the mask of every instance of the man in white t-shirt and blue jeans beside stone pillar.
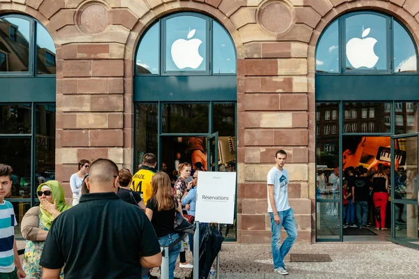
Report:
[{"label": "man in white t-shirt and blue jeans beside stone pillar", "polygon": [[[293,209],[288,204],[288,172],[284,169],[286,152],[277,151],[275,161],[277,164],[267,173],[267,212],[271,218],[274,273],[287,275],[288,269],[284,264],[284,257],[297,239],[297,226]],[[282,245],[279,245],[283,226],[288,237]]]}]

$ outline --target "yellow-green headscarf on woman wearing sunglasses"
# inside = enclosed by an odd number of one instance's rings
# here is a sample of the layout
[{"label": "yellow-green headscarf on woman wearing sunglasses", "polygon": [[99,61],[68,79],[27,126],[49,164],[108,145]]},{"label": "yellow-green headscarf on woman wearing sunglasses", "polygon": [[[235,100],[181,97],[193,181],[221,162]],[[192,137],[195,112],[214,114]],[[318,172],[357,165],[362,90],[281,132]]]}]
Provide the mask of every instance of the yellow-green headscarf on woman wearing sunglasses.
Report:
[{"label": "yellow-green headscarf on woman wearing sunglasses", "polygon": [[[71,208],[71,206],[66,204],[66,199],[64,199],[64,189],[57,180],[50,180],[40,184],[36,189],[36,192],[40,191],[43,187],[48,187],[51,189],[52,203],[54,203],[54,200],[57,199],[57,210],[59,212],[64,212]],[[54,217],[52,214],[43,209],[42,206],[39,207],[41,209],[41,214],[39,216],[41,218],[41,222],[47,229],[50,229]]]}]

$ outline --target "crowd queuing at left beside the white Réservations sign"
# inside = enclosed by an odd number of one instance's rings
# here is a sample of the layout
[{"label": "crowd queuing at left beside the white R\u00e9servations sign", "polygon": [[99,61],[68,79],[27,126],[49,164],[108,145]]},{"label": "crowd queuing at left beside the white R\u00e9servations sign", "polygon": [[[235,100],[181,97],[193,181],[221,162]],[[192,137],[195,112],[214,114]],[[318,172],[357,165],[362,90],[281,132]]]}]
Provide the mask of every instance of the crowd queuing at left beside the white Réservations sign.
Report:
[{"label": "crowd queuing at left beside the white R\u00e9servations sign", "polygon": [[156,171],[152,153],[143,156],[134,175],[111,160],[80,160],[70,179],[72,205],[66,204],[59,181],[41,183],[36,191],[40,205],[22,218],[27,242],[21,264],[15,213],[4,199],[13,184],[12,168],[0,164],[0,213],[10,219],[0,229],[0,245],[7,248],[0,255],[0,278],[157,278],[149,270],[161,264],[160,246],[171,243],[176,244],[169,251],[169,278],[175,278],[179,255],[179,266],[192,268],[184,247],[193,247],[193,235],[177,240],[174,216],[179,211],[193,222],[199,170],[179,164],[175,183],[164,170]]}]

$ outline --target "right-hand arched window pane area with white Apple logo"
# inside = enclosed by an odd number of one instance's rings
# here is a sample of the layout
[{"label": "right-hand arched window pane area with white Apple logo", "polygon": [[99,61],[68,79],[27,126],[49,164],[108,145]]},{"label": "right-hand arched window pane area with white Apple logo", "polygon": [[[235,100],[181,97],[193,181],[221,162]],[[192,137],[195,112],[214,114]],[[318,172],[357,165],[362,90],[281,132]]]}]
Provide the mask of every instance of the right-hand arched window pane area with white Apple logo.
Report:
[{"label": "right-hand arched window pane area with white Apple logo", "polygon": [[316,73],[417,73],[416,45],[394,17],[348,13],[329,25],[316,47]]}]

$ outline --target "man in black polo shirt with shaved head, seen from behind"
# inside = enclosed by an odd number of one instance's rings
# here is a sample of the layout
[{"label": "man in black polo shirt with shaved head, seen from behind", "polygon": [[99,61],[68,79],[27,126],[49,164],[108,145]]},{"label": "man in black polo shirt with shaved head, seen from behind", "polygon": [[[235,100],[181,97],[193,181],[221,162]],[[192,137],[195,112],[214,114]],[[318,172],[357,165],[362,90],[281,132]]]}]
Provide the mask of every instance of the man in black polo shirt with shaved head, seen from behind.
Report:
[{"label": "man in black polo shirt with shaved head, seen from behind", "polygon": [[118,167],[91,164],[90,193],[52,223],[41,256],[43,278],[141,278],[141,269],[161,264],[159,241],[145,213],[116,195]]}]

